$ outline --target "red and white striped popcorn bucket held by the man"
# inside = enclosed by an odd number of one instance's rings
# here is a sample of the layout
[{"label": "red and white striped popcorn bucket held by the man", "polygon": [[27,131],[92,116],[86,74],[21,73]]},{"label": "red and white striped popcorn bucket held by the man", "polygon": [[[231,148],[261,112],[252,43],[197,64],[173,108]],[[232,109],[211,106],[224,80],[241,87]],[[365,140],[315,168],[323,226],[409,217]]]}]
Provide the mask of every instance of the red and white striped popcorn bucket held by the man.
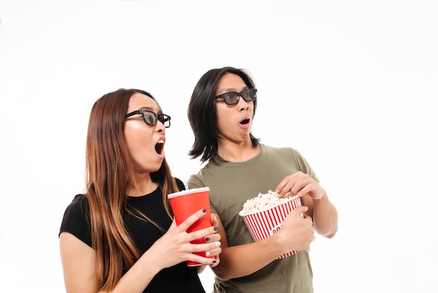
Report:
[{"label": "red and white striped popcorn bucket held by the man", "polygon": [[[299,205],[301,205],[301,198],[294,196],[279,205],[269,207],[268,210],[248,214],[244,214],[243,210],[241,210],[239,216],[242,217],[254,241],[260,241],[279,231],[285,217]],[[291,252],[281,254],[277,259],[283,259],[295,253],[297,251],[292,250]]]}]

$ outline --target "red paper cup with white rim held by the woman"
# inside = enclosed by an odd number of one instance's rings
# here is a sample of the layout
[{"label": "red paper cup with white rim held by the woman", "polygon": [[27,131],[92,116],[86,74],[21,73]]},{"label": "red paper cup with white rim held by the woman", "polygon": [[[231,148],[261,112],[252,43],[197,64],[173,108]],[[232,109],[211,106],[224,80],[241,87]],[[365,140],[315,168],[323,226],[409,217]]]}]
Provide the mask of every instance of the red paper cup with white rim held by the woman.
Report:
[{"label": "red paper cup with white rim held by the woman", "polygon": [[[190,217],[195,212],[206,209],[206,213],[201,219],[197,220],[192,226],[187,229],[187,232],[193,232],[201,230],[204,228],[211,227],[211,212],[210,212],[210,198],[209,198],[209,187],[202,187],[199,189],[188,189],[175,193],[170,193],[167,198],[169,198],[172,211],[174,212],[174,217],[176,224],[179,225]],[[199,238],[191,241],[190,243],[199,244],[205,243],[204,238]],[[193,252],[202,257],[205,257],[205,252]],[[214,259],[216,257],[209,257]],[[201,264],[195,261],[186,261],[188,266],[199,266]]]}]

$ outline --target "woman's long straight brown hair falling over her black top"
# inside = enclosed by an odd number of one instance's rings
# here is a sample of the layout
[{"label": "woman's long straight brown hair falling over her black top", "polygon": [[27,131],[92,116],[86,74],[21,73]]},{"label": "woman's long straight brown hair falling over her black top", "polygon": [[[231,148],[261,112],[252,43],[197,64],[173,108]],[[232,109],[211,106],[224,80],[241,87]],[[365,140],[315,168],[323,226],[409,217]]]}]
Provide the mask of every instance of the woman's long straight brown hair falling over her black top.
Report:
[{"label": "woman's long straight brown hair falling over her black top", "polygon": [[[86,196],[90,204],[92,247],[96,252],[99,288],[111,290],[140,252],[125,228],[122,212],[129,210],[127,194],[133,186],[134,168],[123,128],[129,98],[143,90],[119,89],[97,100],[90,113],[86,144]],[[150,174],[162,189],[164,207],[171,217],[167,194],[178,191],[166,160]],[[146,215],[136,216],[149,221]],[[155,224],[157,225],[157,224]]]}]

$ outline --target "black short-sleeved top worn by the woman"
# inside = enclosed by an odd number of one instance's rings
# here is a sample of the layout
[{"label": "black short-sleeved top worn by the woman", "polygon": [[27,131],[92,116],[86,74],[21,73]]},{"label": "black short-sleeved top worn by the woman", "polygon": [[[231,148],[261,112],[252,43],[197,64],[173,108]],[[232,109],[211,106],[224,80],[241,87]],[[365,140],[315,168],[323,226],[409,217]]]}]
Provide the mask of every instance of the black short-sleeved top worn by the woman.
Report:
[{"label": "black short-sleeved top worn by the woman", "polygon": [[[180,190],[185,189],[181,180],[176,179],[176,182]],[[128,196],[127,203],[143,212],[143,214],[146,214],[155,223],[159,224],[164,231],[169,229],[172,220],[167,215],[166,210],[164,210],[160,187],[145,196]],[[72,203],[64,212],[59,234],[61,232],[69,232],[83,241],[83,243],[92,247],[91,224],[87,216],[89,211],[90,207],[85,195],[78,194],[75,196]],[[127,212],[123,213],[123,219],[125,220],[129,234],[132,236],[141,254],[146,252],[158,238],[164,235],[164,233],[153,224],[141,221]],[[157,273],[153,280],[150,281],[148,287],[143,291],[143,293],[146,292],[205,293],[197,274],[197,268],[187,266],[185,261],[176,266],[164,268]]]}]

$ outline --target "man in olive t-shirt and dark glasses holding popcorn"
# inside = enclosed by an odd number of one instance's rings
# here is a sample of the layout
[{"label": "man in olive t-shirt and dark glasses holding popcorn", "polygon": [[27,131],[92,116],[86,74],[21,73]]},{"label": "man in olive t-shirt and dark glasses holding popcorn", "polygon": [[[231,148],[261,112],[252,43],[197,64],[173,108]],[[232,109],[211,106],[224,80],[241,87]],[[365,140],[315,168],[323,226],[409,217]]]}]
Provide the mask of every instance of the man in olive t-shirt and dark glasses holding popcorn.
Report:
[{"label": "man in olive t-shirt and dark glasses holding popcorn", "polygon": [[[208,162],[188,186],[209,186],[212,217],[219,219],[222,253],[212,268],[214,292],[313,292],[310,243],[314,231],[335,235],[337,210],[298,151],[260,144],[251,134],[256,106],[250,75],[224,67],[199,79],[188,107],[195,135],[189,154]],[[297,194],[302,206],[290,212],[280,231],[253,242],[239,211],[248,198],[269,190]],[[276,259],[292,250],[299,253]]]}]

